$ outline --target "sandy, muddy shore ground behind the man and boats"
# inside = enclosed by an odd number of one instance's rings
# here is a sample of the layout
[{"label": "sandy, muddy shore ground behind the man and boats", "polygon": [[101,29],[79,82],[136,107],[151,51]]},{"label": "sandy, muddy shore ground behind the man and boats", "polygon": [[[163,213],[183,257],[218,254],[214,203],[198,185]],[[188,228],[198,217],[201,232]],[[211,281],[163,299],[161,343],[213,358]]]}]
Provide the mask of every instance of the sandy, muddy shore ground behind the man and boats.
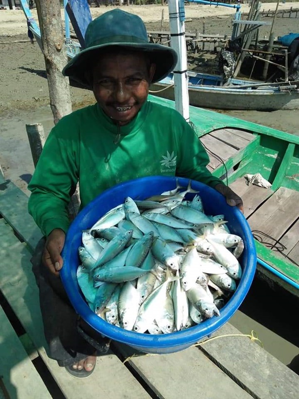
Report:
[{"label": "sandy, muddy shore ground behind the man and boats", "polygon": [[[299,8],[298,3],[280,4],[279,9]],[[275,9],[276,3],[264,4],[265,10]],[[130,6],[124,10],[136,13],[145,21],[147,30],[160,30],[162,6]],[[93,17],[110,8],[92,8]],[[245,13],[248,6],[242,5]],[[263,9],[263,6],[262,6]],[[168,30],[168,8],[164,7],[164,30]],[[186,32],[202,31],[205,16],[206,33],[231,34],[235,10],[229,8],[187,5]],[[35,10],[33,14],[36,17]],[[263,21],[271,18],[263,18]],[[276,36],[298,32],[299,18],[278,18],[274,26]],[[260,35],[268,36],[270,26],[261,29]],[[263,37],[262,36],[262,37]],[[189,54],[192,68],[203,72],[210,67],[210,57]],[[213,72],[212,70],[210,70]],[[94,102],[90,91],[70,87],[73,109]],[[231,116],[250,120],[291,133],[299,134],[298,111],[227,111]],[[11,179],[27,192],[27,182],[34,171],[25,124],[42,123],[45,134],[53,127],[49,107],[49,90],[44,57],[37,43],[32,45],[27,36],[26,20],[21,10],[0,10],[0,165],[7,179]],[[27,192],[28,193],[28,192]]]}]

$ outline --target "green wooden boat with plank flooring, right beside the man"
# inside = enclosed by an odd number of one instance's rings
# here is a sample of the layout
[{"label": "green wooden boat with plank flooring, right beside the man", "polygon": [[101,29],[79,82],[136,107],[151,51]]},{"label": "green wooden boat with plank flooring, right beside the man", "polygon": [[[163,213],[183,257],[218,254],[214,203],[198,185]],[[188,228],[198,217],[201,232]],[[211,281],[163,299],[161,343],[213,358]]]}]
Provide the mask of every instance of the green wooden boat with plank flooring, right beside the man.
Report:
[{"label": "green wooden boat with plank flooring, right beside the man", "polygon": [[[170,100],[152,101],[175,107]],[[228,181],[245,205],[255,237],[257,274],[299,296],[299,137],[221,113],[190,107],[190,120],[210,155],[208,168]],[[247,182],[260,173],[271,188]]]}]

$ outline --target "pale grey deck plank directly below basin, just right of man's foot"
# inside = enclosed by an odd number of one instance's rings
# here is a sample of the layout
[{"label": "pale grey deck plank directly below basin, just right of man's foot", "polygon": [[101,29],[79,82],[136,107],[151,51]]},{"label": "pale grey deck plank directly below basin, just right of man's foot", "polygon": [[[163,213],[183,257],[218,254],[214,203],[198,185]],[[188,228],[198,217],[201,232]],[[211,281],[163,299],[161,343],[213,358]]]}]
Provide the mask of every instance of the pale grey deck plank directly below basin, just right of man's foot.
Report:
[{"label": "pale grey deck plank directly below basin, just right of man's foot", "polygon": [[[134,354],[127,345],[118,344],[118,348],[125,358]],[[222,354],[220,351],[219,356]],[[159,398],[214,399],[219,396],[219,387],[222,399],[251,398],[196,347],[159,356],[141,354],[132,357],[128,363],[148,381],[156,394],[160,394]],[[165,374],[165,370],[169,374]]]}]

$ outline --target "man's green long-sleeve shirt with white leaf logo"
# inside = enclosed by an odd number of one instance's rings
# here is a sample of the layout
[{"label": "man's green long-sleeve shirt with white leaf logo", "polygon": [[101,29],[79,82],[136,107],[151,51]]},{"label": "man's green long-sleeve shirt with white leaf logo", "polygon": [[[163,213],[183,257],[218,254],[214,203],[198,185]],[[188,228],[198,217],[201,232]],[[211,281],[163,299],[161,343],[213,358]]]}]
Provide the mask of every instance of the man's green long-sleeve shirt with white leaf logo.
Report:
[{"label": "man's green long-sleeve shirt with white leaf logo", "polygon": [[221,181],[208,163],[193,129],[176,110],[147,101],[133,121],[120,127],[95,104],[53,127],[28,186],[29,213],[44,235],[55,228],[66,232],[70,191],[77,181],[82,209],[107,188],[144,176],[180,176],[213,187]]}]

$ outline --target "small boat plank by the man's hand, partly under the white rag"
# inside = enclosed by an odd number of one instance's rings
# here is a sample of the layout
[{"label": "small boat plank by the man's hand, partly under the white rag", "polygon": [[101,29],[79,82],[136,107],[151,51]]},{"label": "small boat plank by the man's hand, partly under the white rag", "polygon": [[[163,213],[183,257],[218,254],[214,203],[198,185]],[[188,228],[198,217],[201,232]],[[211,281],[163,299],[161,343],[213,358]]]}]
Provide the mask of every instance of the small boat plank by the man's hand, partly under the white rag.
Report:
[{"label": "small boat plank by the man's hand, partly under the white rag", "polygon": [[229,187],[237,193],[244,202],[244,216],[248,218],[268,197],[273,194],[270,189],[262,188],[254,184],[246,184],[246,179],[241,177]]}]

